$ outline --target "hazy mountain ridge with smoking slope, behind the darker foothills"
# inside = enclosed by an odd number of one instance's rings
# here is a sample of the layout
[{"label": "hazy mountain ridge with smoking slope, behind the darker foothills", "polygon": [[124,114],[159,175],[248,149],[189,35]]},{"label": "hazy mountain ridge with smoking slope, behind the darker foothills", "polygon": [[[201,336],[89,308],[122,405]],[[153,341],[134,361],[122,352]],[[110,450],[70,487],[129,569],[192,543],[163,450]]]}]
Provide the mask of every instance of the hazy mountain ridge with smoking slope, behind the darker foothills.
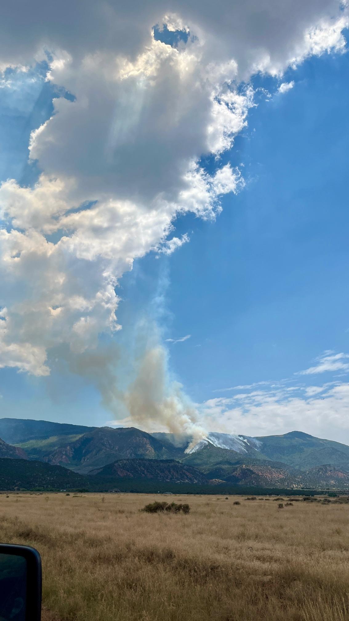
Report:
[{"label": "hazy mountain ridge with smoking slope, behind the darker foothills", "polygon": [[[349,471],[349,446],[299,430],[256,438],[211,432],[196,450],[186,452],[189,437],[147,433],[136,427],[0,419],[0,434],[4,429],[7,437],[21,438],[22,442],[16,446],[0,442],[0,458],[40,460],[80,474],[117,461],[120,466],[120,460],[176,460],[209,479],[237,484],[331,487],[346,486]],[[57,435],[50,435],[53,431]],[[35,433],[39,438],[35,439]]]}]

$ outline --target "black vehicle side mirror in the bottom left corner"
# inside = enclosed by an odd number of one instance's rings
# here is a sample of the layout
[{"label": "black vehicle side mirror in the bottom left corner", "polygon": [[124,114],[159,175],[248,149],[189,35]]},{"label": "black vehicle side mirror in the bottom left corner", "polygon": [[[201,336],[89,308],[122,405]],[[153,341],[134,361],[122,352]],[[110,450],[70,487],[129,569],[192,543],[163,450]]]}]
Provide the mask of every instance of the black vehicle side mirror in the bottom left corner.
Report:
[{"label": "black vehicle side mirror in the bottom left corner", "polygon": [[41,558],[34,548],[0,543],[0,621],[40,621]]}]

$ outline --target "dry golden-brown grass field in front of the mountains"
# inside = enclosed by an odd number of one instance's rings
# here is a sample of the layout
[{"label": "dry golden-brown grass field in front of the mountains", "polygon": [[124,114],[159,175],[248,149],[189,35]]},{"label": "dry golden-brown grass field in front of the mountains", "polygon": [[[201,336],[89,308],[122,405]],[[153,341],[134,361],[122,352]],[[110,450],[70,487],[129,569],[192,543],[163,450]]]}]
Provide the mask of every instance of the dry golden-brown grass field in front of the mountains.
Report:
[{"label": "dry golden-brown grass field in front of the mountains", "polygon": [[[191,512],[139,511],[165,499]],[[0,495],[0,540],[42,555],[44,621],[349,620],[348,527],[349,504]]]}]

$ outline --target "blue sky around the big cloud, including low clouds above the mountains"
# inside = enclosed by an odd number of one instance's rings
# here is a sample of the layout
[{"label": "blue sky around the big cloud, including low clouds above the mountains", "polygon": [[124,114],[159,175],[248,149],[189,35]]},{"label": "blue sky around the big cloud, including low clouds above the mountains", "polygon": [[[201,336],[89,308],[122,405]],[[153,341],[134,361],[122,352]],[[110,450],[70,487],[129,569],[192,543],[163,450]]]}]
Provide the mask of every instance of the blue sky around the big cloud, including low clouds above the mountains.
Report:
[{"label": "blue sky around the big cloud, including low clouds above the mountains", "polygon": [[[176,45],[180,39],[174,37]],[[4,73],[1,181],[13,178],[20,187],[33,187],[45,172],[45,153],[28,161],[30,132],[52,114],[65,114],[60,103],[53,113],[53,97],[67,97],[69,106],[73,97],[65,93],[74,93],[69,79],[66,90],[47,80],[49,64]],[[222,166],[237,166],[245,186],[221,197],[222,212],[214,219],[179,209],[168,237],[183,240],[188,234],[189,242],[179,242],[171,254],[159,245],[139,258],[136,253],[132,271],[122,268],[118,277],[122,330],[112,337],[99,330],[98,347],[112,341],[120,348],[120,389],[134,380],[130,352],[146,321],[145,332],[153,335],[156,326],[168,352],[166,382],[183,384],[206,427],[266,435],[297,426],[349,442],[348,73],[347,53],[325,52],[286,68],[279,78],[252,76],[255,105],[247,125],[231,148],[200,161],[212,179]],[[281,83],[293,88],[281,93]],[[82,194],[76,196],[75,203]],[[4,217],[2,227],[11,230],[11,220]],[[46,237],[55,242],[55,235]],[[59,348],[52,351],[49,375],[3,365],[2,416],[86,425],[134,422],[124,403],[119,418],[115,408],[111,415],[91,376],[71,372]],[[315,370],[303,373],[309,368]],[[249,388],[234,388],[240,386]],[[164,425],[143,421],[143,428]]]}]

